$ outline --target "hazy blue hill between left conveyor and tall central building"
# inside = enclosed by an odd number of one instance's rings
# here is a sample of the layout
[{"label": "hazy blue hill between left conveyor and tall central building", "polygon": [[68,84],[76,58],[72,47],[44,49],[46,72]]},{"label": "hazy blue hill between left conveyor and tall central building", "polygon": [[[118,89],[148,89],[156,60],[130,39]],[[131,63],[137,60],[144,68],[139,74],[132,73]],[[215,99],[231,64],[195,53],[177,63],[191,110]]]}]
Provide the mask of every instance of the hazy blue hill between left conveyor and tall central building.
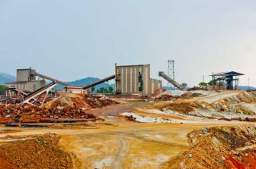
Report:
[{"label": "hazy blue hill between left conveyor and tall central building", "polygon": [[[71,86],[86,86],[88,84],[91,84],[91,83],[94,83],[94,82],[97,82],[98,80],[100,80],[99,78],[97,77],[86,77],[84,79],[81,79],[81,80],[75,80],[75,81],[72,81],[72,82],[67,82],[69,83]],[[112,86],[114,87],[114,84],[107,84],[107,83],[101,83],[97,86],[95,86],[95,90],[101,88],[101,87],[105,87],[107,88],[108,86]],[[56,86],[56,89],[64,89],[65,86],[62,86],[62,85],[57,85]]]}]

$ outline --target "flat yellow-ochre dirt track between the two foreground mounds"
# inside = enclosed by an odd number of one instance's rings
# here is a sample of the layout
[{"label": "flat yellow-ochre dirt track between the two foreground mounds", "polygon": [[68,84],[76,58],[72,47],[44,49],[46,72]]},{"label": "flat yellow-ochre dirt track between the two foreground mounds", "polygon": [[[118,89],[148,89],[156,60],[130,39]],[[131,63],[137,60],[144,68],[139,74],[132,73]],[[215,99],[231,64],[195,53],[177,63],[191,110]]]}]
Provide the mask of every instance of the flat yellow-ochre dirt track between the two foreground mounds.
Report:
[{"label": "flat yellow-ochre dirt track between the two foreground mounds", "polygon": [[82,162],[81,168],[101,168],[104,164],[107,168],[158,168],[188,149],[187,133],[203,127],[130,123],[99,129],[24,130],[11,135],[57,133],[61,136],[60,147],[75,153]]}]

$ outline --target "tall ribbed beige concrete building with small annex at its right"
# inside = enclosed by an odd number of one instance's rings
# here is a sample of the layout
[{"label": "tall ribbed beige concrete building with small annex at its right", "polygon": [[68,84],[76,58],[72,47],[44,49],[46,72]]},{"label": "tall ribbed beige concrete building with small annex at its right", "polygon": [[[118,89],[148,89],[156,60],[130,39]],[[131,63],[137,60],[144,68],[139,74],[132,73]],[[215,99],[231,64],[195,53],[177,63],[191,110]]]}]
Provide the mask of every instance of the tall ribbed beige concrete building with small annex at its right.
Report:
[{"label": "tall ribbed beige concrete building with small annex at its right", "polygon": [[150,78],[150,64],[115,65],[116,90],[121,94],[150,96],[162,88],[162,81]]}]

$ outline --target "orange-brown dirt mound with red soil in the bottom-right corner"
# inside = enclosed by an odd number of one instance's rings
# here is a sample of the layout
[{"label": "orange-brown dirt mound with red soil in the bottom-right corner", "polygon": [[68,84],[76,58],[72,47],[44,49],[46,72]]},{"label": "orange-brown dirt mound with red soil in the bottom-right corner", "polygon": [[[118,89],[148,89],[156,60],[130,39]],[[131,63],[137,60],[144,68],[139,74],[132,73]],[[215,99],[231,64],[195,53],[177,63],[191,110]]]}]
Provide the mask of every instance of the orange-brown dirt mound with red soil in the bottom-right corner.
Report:
[{"label": "orange-brown dirt mound with red soil in the bottom-right corner", "polygon": [[190,150],[162,168],[256,168],[256,126],[213,127],[187,134]]}]

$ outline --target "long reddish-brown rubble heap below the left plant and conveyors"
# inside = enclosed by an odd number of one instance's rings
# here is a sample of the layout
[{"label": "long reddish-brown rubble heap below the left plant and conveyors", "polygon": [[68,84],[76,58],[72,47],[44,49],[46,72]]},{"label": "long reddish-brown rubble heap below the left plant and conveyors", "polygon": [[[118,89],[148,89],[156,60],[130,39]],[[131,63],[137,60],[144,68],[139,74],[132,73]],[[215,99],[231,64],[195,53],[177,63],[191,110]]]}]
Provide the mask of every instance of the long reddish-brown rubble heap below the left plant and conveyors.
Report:
[{"label": "long reddish-brown rubble heap below the left plant and conveyors", "polygon": [[0,105],[0,123],[39,123],[54,119],[98,119],[87,110],[117,104],[104,95],[68,94],[43,106]]}]

